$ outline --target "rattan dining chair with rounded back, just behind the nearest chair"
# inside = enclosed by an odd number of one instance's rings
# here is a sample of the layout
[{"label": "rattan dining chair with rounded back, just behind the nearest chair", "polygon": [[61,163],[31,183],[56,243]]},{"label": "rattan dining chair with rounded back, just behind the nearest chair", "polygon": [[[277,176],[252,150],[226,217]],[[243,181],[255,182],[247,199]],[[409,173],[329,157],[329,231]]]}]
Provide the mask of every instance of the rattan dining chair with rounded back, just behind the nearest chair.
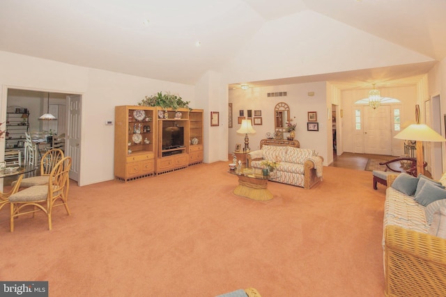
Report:
[{"label": "rattan dining chair with rounded back, just behind the nearest chair", "polygon": [[[20,187],[29,188],[30,186],[42,186],[48,184],[48,176],[51,173],[51,170],[54,168],[56,163],[63,159],[63,156],[62,150],[59,149],[45,152],[40,160],[40,176],[26,177],[22,179]],[[14,184],[15,182],[12,183],[12,185]]]}]

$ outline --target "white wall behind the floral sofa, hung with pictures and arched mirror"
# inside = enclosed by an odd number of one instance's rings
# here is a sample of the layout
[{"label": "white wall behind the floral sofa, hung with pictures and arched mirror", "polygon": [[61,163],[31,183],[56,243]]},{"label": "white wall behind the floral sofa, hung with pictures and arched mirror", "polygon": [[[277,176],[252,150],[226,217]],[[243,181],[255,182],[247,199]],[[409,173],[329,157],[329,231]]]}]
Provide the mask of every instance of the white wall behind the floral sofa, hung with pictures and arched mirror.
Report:
[{"label": "white wall behind the floral sofa, hung with pictures and arched mirror", "polygon": [[[287,96],[267,97],[267,93],[272,92],[287,92]],[[309,96],[309,92],[314,92],[314,96]],[[285,102],[290,107],[293,123],[297,124],[295,139],[300,142],[300,147],[316,150],[319,155],[323,156],[324,165],[327,165],[328,143],[326,135],[328,127],[331,133],[331,121],[328,125],[325,82],[229,90],[229,102],[233,104],[233,127],[229,128],[229,152],[234,151],[236,143],[240,143],[242,147],[245,143],[245,134],[236,132],[240,128],[237,121],[240,110],[244,111],[245,117],[248,109],[251,109],[253,113],[254,110],[261,110],[262,125],[253,125],[256,133],[249,134],[249,147],[251,150],[258,150],[261,139],[266,138],[266,133],[274,133],[275,105],[279,102]],[[319,131],[307,131],[308,111],[316,111]]]}]

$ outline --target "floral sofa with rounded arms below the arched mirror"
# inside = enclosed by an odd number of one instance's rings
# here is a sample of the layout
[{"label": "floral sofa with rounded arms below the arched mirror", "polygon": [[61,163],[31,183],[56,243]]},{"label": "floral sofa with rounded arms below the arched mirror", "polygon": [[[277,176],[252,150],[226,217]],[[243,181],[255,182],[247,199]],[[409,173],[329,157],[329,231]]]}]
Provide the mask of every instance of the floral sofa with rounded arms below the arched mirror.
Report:
[{"label": "floral sofa with rounded arms below the arched mirror", "polygon": [[322,180],[323,158],[314,150],[283,145],[263,145],[261,150],[247,154],[249,168],[266,168],[263,160],[278,161],[278,177],[274,182],[311,188]]}]

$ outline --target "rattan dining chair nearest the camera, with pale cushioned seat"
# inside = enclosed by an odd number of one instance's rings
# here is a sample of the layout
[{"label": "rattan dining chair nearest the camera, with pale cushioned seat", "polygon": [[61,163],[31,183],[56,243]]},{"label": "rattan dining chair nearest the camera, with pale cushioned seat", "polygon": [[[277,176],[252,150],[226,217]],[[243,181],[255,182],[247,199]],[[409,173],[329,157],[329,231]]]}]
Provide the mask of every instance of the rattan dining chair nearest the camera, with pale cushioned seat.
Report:
[{"label": "rattan dining chair nearest the camera, with pale cushioned seat", "polygon": [[47,185],[31,186],[9,196],[10,232],[14,232],[14,219],[24,214],[34,215],[37,211],[43,211],[48,218],[48,230],[52,230],[52,211],[54,207],[63,205],[68,216],[70,216],[68,175],[71,162],[70,156],[61,159],[47,177]]}]

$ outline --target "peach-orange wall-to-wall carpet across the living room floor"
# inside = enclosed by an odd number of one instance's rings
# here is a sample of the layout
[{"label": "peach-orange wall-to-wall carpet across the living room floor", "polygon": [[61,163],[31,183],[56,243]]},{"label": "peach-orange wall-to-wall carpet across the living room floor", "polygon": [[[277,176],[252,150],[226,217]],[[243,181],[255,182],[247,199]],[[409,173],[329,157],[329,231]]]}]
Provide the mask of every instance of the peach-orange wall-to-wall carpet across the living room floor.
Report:
[{"label": "peach-orange wall-to-wall carpet across the living room floor", "polygon": [[0,211],[0,280],[48,280],[49,296],[383,296],[383,202],[371,172],[325,167],[311,190],[233,195],[227,162],[128,184],[70,187],[70,209]]}]

